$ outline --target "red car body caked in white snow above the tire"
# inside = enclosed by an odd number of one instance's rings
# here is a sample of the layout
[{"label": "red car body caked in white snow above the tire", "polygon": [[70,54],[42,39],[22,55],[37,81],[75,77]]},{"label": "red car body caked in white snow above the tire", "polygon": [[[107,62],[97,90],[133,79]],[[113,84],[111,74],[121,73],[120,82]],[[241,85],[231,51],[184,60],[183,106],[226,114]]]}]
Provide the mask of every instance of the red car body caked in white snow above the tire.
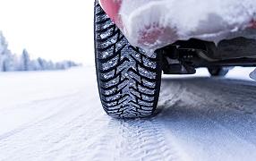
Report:
[{"label": "red car body caked in white snow above the tire", "polygon": [[199,38],[216,44],[256,38],[255,0],[99,0],[107,15],[136,47],[157,49]]}]

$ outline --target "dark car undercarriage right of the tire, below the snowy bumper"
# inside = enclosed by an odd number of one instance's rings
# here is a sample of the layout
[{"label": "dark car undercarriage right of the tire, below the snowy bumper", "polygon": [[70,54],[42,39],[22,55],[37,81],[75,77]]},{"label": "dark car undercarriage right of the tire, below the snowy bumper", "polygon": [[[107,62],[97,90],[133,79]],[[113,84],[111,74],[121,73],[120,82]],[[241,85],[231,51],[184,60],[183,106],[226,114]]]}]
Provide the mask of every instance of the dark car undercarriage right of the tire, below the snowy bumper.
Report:
[{"label": "dark car undercarriage right of the tire, below the snowy bumper", "polygon": [[214,42],[191,38],[176,41],[156,52],[162,55],[165,74],[193,74],[196,68],[256,66],[256,39],[232,38]]}]

